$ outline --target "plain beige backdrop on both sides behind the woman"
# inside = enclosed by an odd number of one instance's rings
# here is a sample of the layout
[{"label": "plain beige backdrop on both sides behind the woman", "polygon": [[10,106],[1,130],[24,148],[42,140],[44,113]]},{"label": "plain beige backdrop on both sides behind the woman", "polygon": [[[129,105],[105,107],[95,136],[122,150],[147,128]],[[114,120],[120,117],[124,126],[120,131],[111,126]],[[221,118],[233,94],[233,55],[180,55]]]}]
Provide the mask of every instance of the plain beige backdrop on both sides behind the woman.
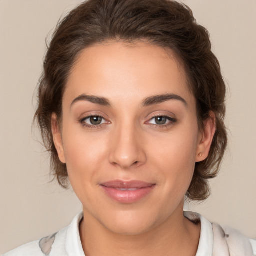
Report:
[{"label": "plain beige backdrop on both sides behind the woman", "polygon": [[[57,231],[81,210],[72,191],[48,183],[47,153],[31,132],[45,36],[78,2],[0,0],[0,253]],[[183,2],[208,28],[230,87],[221,172],[210,198],[186,208],[256,238],[256,1]]]}]

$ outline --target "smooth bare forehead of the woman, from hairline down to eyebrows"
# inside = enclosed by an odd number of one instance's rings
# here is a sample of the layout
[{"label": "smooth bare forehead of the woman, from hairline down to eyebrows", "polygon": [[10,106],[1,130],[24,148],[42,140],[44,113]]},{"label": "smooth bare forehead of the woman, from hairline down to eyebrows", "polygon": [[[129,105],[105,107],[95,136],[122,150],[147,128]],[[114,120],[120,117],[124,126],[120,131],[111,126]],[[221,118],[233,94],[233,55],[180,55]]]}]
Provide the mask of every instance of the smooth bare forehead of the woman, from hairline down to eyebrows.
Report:
[{"label": "smooth bare forehead of the woman, from hairline down to eyebrows", "polygon": [[187,84],[184,68],[170,49],[146,42],[107,42],[79,54],[64,98],[83,93],[122,102],[130,96],[141,99],[165,93],[193,97]]}]

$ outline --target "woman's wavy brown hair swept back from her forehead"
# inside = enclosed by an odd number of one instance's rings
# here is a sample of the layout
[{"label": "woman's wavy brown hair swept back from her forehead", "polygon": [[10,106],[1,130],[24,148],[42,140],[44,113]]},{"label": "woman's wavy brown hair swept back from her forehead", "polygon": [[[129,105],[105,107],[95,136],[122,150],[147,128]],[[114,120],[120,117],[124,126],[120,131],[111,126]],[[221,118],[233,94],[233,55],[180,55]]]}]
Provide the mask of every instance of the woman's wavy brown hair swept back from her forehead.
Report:
[{"label": "woman's wavy brown hair swept back from her forehead", "polygon": [[34,118],[51,153],[51,169],[59,184],[67,187],[68,177],[53,143],[51,115],[56,113],[61,122],[66,80],[79,52],[107,40],[146,40],[174,51],[196,98],[199,126],[209,117],[209,111],[215,113],[216,132],[209,155],[196,162],[186,193],[189,199],[206,199],[208,179],[216,176],[227,143],[223,123],[225,83],[211,51],[208,31],[196,23],[189,7],[172,0],[88,0],[58,23],[44,58]]}]

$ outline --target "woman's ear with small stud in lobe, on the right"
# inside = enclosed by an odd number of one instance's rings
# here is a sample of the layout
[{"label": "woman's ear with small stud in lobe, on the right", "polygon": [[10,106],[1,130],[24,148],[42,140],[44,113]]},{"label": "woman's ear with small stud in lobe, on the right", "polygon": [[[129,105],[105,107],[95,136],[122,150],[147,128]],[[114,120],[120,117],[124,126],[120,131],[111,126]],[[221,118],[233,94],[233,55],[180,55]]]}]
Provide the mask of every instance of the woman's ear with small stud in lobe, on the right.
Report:
[{"label": "woman's ear with small stud in lobe, on the right", "polygon": [[202,130],[199,131],[195,162],[203,161],[207,158],[211,142],[216,131],[216,116],[214,112],[209,112],[209,117],[203,121]]}]

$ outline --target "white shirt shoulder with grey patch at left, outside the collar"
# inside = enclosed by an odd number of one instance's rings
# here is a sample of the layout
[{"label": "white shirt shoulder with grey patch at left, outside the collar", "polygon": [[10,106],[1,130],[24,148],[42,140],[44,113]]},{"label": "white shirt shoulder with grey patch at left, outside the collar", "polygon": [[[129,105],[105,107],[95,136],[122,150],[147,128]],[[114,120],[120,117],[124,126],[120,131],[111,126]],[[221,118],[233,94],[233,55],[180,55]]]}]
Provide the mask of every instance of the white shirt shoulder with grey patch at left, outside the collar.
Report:
[{"label": "white shirt shoulder with grey patch at left, outside the collar", "polygon": [[23,244],[11,251],[6,252],[3,254],[3,256],[65,256],[66,230],[67,227],[39,240]]}]

